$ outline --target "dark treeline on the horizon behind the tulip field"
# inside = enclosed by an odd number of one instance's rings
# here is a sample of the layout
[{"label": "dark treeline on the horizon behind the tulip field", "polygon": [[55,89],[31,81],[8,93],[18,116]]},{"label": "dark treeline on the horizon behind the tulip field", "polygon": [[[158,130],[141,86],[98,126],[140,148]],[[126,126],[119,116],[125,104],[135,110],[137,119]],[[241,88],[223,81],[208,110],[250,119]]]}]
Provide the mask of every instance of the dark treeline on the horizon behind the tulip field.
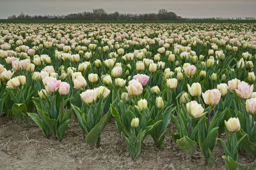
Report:
[{"label": "dark treeline on the horizon behind the tulip field", "polygon": [[12,15],[8,19],[17,20],[177,20],[177,17],[172,11],[161,9],[158,13],[106,13],[103,9],[94,9],[92,12],[84,11],[83,13],[70,13],[68,15],[25,15],[20,13],[19,16]]}]

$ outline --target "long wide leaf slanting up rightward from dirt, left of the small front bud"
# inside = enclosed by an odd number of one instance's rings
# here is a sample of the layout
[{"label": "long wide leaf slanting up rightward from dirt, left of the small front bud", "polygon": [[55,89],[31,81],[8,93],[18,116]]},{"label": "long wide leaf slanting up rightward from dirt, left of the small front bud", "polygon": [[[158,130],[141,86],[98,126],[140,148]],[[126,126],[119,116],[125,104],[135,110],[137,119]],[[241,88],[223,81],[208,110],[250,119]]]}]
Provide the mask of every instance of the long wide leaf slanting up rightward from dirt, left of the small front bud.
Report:
[{"label": "long wide leaf slanting up rightward from dirt, left of the small front bud", "polygon": [[97,142],[97,139],[100,137],[104,127],[108,124],[109,119],[111,118],[111,112],[109,111],[104,117],[100,119],[100,122],[93,127],[93,129],[86,136],[86,143],[89,145],[94,145]]}]

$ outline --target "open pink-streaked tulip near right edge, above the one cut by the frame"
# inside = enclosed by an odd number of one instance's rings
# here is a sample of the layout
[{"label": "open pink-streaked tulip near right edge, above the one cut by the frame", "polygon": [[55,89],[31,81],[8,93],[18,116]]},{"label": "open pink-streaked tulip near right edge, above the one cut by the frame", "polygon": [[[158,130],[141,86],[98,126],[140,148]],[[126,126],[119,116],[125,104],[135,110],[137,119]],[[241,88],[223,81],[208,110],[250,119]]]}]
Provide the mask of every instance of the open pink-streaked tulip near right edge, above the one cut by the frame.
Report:
[{"label": "open pink-streaked tulip near right edge, above the one cut by the frame", "polygon": [[253,92],[253,85],[248,85],[248,83],[242,81],[239,83],[236,89],[236,94],[241,98],[241,99],[249,99],[252,96]]}]

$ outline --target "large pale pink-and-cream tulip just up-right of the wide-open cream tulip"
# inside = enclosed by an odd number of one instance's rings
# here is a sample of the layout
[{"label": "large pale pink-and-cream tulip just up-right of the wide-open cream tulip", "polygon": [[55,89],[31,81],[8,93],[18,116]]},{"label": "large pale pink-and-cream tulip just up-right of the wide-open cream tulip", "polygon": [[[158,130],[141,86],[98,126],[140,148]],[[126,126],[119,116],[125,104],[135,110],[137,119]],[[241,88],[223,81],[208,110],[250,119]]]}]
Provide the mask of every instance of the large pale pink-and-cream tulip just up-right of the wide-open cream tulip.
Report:
[{"label": "large pale pink-and-cream tulip just up-right of the wide-open cream tulip", "polygon": [[207,90],[202,94],[204,103],[209,106],[216,106],[220,102],[221,93],[218,89]]}]

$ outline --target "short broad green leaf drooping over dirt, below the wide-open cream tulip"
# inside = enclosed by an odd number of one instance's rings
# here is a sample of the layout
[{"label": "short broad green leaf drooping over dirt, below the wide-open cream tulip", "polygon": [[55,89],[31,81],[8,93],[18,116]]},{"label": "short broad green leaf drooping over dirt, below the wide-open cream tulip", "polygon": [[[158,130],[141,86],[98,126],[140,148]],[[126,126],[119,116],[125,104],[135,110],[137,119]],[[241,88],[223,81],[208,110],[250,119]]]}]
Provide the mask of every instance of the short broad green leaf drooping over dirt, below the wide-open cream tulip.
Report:
[{"label": "short broad green leaf drooping over dirt, below the wide-open cream tulip", "polygon": [[196,152],[196,142],[189,139],[188,136],[178,139],[176,143],[185,153],[190,155],[190,157],[192,157],[192,155]]}]

